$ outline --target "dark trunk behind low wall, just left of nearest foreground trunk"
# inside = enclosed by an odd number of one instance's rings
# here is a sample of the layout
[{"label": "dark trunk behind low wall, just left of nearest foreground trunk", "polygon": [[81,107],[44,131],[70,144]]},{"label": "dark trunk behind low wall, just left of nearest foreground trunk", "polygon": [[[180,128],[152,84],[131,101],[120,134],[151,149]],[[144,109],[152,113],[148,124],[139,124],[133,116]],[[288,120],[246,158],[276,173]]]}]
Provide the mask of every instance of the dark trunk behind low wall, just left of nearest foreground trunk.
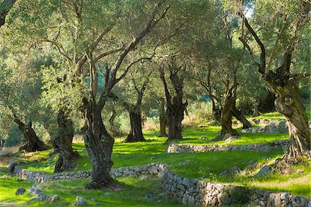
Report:
[{"label": "dark trunk behind low wall, just left of nearest foreground trunk", "polygon": [[73,123],[66,117],[64,111],[57,116],[58,134],[53,141],[54,153],[59,153],[59,159],[54,172],[69,171],[75,168],[79,154],[73,152]]}]

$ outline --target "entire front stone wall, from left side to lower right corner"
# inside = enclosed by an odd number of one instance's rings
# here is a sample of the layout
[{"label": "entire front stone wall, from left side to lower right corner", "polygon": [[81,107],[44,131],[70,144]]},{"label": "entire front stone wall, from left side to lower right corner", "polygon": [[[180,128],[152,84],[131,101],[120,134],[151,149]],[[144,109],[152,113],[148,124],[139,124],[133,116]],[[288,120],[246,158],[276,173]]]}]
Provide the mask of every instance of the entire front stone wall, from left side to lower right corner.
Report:
[{"label": "entire front stone wall, from left side to lower right corner", "polygon": [[[86,179],[91,177],[90,171],[44,174],[21,169],[15,165],[13,171],[21,179],[33,182],[45,182],[64,179]],[[162,178],[166,197],[176,199],[191,206],[233,206],[246,204],[251,206],[275,207],[311,207],[310,199],[291,195],[287,192],[268,192],[253,188],[243,188],[220,183],[210,183],[199,179],[179,177],[169,172],[166,164],[151,163],[139,167],[124,167],[111,170],[113,177],[156,175]]]}]

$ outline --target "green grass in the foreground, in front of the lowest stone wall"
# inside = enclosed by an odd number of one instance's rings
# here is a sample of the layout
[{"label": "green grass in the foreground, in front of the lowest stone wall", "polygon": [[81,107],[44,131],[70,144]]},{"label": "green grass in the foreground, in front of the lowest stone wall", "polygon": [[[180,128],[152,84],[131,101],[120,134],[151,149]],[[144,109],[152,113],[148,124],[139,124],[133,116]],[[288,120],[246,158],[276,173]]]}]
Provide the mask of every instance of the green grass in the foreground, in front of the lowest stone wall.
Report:
[{"label": "green grass in the foreground, in front of the lowest stone wall", "polygon": [[[87,206],[185,206],[177,201],[166,199],[160,194],[163,192],[160,181],[156,177],[122,177],[117,178],[115,183],[120,190],[102,189],[86,190],[85,184],[88,179],[73,181],[53,181],[37,184],[46,195],[58,195],[59,201],[46,204],[44,201],[30,201],[32,195],[26,192],[24,195],[15,195],[18,188],[30,188],[31,183],[21,181],[15,177],[3,178],[0,172],[0,206],[22,205],[22,206],[75,206],[77,196],[84,197]],[[146,199],[146,195],[149,199]],[[94,199],[95,201],[88,201]],[[100,203],[100,204],[99,204]]]}]

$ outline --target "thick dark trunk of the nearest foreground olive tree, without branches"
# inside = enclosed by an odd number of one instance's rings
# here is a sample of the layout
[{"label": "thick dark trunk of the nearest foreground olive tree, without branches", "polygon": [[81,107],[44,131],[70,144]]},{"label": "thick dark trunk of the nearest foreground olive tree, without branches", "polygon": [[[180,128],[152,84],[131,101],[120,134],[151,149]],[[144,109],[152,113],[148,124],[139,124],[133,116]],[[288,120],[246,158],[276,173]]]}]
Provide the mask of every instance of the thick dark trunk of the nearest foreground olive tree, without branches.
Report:
[{"label": "thick dark trunk of the nearest foreground olive tree, without branches", "polygon": [[100,189],[113,183],[110,171],[113,165],[111,153],[114,139],[106,131],[101,111],[97,111],[95,101],[87,102],[85,125],[82,128],[84,143],[92,165],[92,181],[86,184],[88,189]]}]

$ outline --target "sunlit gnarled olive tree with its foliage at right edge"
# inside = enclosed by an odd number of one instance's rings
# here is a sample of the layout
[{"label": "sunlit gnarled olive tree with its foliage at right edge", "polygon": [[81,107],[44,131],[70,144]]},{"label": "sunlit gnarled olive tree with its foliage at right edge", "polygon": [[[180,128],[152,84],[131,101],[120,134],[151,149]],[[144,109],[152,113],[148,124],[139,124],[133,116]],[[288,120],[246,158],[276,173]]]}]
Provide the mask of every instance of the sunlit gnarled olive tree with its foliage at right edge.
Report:
[{"label": "sunlit gnarled olive tree with its foliage at right edge", "polygon": [[[254,48],[247,41],[245,33],[239,39],[249,51],[252,61],[258,68],[259,73],[262,74],[263,79],[274,89],[276,110],[288,120],[290,148],[283,159],[276,164],[283,171],[288,168],[286,163],[298,163],[301,157],[310,157],[311,143],[308,118],[298,93],[299,80],[310,77],[310,73],[298,73],[298,71],[291,70],[294,49],[303,39],[303,30],[308,28],[310,2],[278,1],[278,3],[275,3],[275,1],[258,1],[257,3],[257,8],[254,11],[255,15],[257,13],[258,16],[265,14],[265,18],[267,18],[263,19],[265,21],[258,21],[258,24],[263,22],[265,24],[264,28],[267,28],[267,30],[272,29],[274,33],[277,30],[276,35],[274,35],[274,44],[271,48],[268,47],[270,46],[269,42],[263,41],[265,36],[262,35],[265,35],[265,33],[261,30],[254,30],[254,26],[249,23],[244,15],[242,15],[244,30],[251,35],[255,45],[258,46],[260,60],[257,60]],[[270,9],[270,12],[267,13],[267,9]],[[240,14],[243,14],[243,12]],[[272,19],[274,21],[271,21]],[[271,22],[276,22],[276,24],[271,25]],[[281,51],[283,51],[283,57],[275,57]],[[267,53],[270,53],[269,58],[267,58]],[[273,64],[277,65],[274,70],[272,69]]]}]

